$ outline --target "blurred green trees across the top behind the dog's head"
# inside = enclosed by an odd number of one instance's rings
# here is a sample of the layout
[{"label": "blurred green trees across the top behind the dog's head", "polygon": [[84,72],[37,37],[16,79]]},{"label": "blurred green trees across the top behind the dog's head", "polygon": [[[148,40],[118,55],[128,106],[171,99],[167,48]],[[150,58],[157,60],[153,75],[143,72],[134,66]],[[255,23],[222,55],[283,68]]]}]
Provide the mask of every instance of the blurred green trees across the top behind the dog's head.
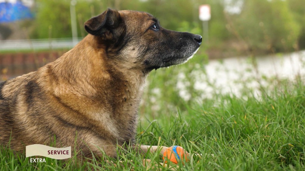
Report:
[{"label": "blurred green trees across the top behind the dog's head", "polygon": [[[239,2],[232,0],[231,2]],[[224,0],[77,0],[78,36],[84,37],[83,23],[109,8],[151,13],[170,30],[203,33],[199,5],[211,6],[209,47],[228,51],[287,52],[305,48],[305,8],[303,0],[241,0],[241,13],[225,11]],[[70,0],[38,0],[31,38],[71,37]],[[194,30],[193,30],[194,28]],[[193,32],[195,31],[195,32]],[[205,35],[203,35],[205,36]],[[235,42],[239,47],[232,47]],[[246,47],[246,48],[244,48]]]}]

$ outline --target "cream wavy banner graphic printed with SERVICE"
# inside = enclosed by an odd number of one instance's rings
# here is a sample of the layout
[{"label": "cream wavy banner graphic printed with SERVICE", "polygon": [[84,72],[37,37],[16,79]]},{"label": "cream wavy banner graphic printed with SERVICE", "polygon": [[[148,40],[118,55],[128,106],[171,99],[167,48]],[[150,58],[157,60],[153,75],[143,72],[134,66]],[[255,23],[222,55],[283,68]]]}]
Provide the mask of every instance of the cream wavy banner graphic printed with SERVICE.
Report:
[{"label": "cream wavy banner graphic printed with SERVICE", "polygon": [[55,148],[47,145],[34,144],[26,146],[26,157],[44,156],[52,159],[68,159],[71,158],[71,147]]}]

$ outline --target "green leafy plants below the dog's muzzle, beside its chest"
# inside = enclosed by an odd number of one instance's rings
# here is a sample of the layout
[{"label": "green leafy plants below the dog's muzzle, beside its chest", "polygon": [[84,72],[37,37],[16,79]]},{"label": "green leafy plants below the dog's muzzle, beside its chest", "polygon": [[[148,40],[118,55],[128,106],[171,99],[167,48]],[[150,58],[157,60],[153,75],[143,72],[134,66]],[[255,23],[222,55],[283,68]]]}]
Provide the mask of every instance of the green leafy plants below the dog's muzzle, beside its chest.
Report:
[{"label": "green leafy plants below the dog's muzzle, beside its chest", "polygon": [[[146,79],[146,91],[142,98],[140,113],[157,118],[164,113],[176,113],[177,106],[197,102],[202,92],[194,88],[197,79],[202,79],[208,57],[199,50],[187,65],[176,65],[152,71]],[[200,71],[200,72],[199,72]],[[162,103],[167,102],[167,103]]]}]

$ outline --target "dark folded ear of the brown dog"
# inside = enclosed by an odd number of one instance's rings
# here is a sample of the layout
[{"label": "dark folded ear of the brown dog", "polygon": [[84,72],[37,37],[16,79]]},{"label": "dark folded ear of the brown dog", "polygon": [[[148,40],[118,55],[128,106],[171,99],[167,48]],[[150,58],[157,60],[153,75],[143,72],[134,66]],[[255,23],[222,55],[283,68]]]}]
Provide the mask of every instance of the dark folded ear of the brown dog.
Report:
[{"label": "dark folded ear of the brown dog", "polygon": [[[93,17],[85,22],[85,30],[96,36],[104,35],[105,38],[114,38],[114,29],[121,23],[120,14],[117,10],[107,9],[99,16]],[[116,32],[117,33],[117,32]]]}]

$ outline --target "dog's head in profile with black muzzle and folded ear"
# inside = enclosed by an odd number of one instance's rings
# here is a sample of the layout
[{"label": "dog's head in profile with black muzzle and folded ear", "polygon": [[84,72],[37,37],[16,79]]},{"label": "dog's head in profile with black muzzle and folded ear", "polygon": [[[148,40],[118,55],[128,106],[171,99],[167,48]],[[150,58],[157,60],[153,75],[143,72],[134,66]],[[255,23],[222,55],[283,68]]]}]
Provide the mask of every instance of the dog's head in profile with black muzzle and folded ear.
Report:
[{"label": "dog's head in profile with black muzzle and folded ear", "polygon": [[108,58],[143,72],[185,63],[199,49],[202,37],[162,28],[152,15],[108,9],[89,19],[85,30],[106,48]]}]

